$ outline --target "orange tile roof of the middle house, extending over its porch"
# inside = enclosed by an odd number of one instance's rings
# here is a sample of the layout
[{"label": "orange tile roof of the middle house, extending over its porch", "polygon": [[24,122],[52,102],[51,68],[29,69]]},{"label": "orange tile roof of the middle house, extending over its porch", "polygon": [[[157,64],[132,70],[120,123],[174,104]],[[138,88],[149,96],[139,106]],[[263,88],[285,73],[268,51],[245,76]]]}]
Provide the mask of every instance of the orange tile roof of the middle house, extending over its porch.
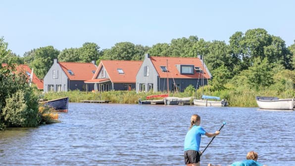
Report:
[{"label": "orange tile roof of the middle house, extending over its porch", "polygon": [[[142,63],[143,61],[139,60],[101,60],[93,76],[93,80],[97,79],[99,71],[103,66],[111,82],[135,83],[137,72]],[[119,74],[117,69],[122,69],[124,73]]]}]

